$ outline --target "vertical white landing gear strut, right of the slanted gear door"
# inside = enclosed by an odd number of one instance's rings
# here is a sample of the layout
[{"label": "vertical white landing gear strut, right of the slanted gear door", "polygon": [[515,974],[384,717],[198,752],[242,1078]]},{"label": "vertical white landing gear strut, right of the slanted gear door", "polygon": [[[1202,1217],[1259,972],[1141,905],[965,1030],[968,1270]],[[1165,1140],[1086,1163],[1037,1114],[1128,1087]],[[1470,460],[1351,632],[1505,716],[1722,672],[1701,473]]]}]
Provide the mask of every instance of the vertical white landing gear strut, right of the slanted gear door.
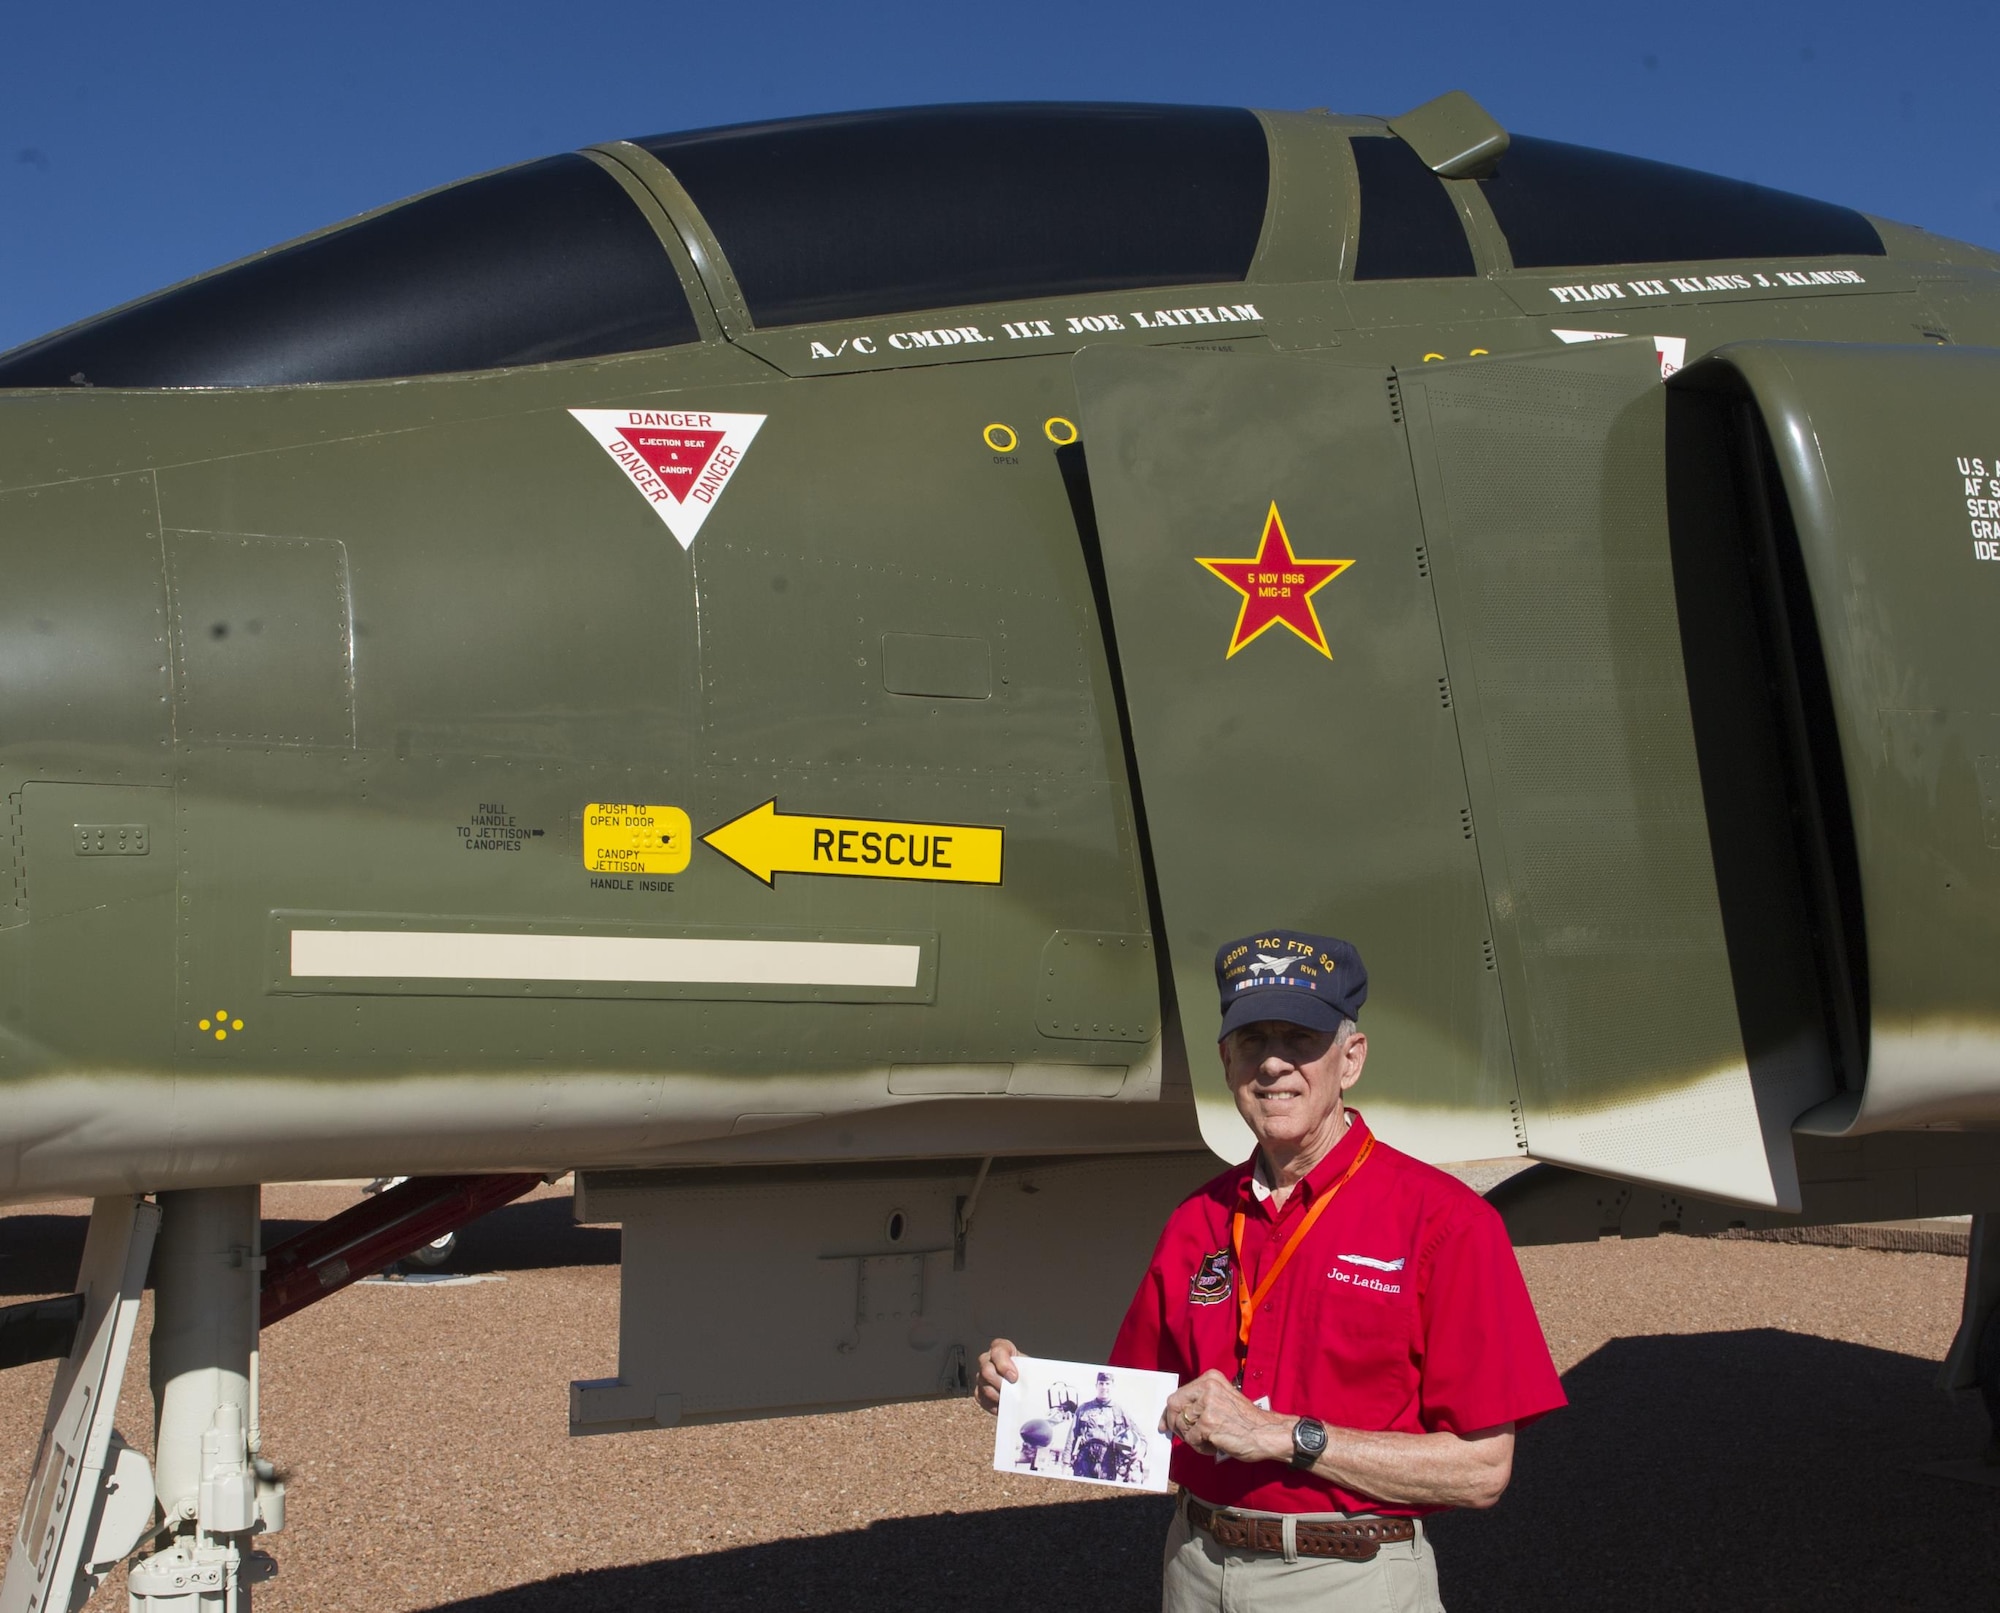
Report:
[{"label": "vertical white landing gear strut, right of the slanted gear door", "polygon": [[154,1273],[154,1489],[168,1545],[132,1565],[132,1613],[250,1613],[276,1573],[250,1537],[284,1527],[284,1485],[256,1455],[262,1289],[258,1189],[162,1193]]}]

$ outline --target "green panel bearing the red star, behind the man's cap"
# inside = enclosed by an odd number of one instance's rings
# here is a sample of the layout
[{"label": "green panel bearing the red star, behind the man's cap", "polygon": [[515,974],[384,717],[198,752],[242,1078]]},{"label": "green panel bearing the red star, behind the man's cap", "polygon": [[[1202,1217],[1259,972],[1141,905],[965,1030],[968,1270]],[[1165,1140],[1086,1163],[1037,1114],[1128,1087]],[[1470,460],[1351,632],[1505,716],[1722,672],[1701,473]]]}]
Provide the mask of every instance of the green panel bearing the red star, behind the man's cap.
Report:
[{"label": "green panel bearing the red star, behind the man's cap", "polygon": [[[1356,1105],[1432,1161],[1520,1153],[1452,690],[1398,402],[1380,368],[1092,348],[1084,450],[1202,1135],[1252,1139],[1216,1059],[1214,957],[1258,927],[1368,965]],[[1298,626],[1204,566],[1318,578]],[[1238,572],[1242,574],[1242,572]],[[1286,600],[1278,600],[1284,604]],[[1324,652],[1308,632],[1324,632]],[[1232,642],[1236,648],[1232,650]]]}]

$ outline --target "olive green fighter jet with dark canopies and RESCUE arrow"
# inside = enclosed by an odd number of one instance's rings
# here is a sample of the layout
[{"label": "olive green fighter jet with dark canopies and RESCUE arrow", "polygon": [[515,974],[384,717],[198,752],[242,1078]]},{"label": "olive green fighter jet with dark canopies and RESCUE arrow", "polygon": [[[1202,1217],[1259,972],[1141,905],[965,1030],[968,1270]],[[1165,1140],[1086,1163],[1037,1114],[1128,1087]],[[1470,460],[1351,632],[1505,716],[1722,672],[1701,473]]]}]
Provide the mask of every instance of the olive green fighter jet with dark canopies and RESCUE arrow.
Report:
[{"label": "olive green fighter jet with dark canopies and RESCUE arrow", "polygon": [[1996,348],[1454,92],[620,140],[0,356],[0,1195],[96,1199],[0,1609],[236,1597],[258,1325],[548,1173],[578,1433],[1090,1359],[1256,925],[1518,1239],[2000,1209]]}]

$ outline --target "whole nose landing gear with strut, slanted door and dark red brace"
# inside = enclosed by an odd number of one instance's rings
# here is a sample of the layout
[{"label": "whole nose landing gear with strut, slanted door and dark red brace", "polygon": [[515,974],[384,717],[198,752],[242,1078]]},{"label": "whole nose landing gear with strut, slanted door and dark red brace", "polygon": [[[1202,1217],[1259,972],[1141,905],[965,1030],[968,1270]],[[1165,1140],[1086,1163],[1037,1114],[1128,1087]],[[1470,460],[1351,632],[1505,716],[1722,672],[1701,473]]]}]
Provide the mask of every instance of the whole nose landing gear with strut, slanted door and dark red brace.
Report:
[{"label": "whole nose landing gear with strut, slanted door and dark red brace", "polygon": [[[132,1613],[250,1613],[250,1587],[278,1571],[252,1541],[284,1527],[284,1485],[258,1453],[258,1329],[412,1251],[448,1251],[460,1227],[540,1181],[396,1179],[268,1259],[256,1187],[98,1199],[78,1291],[0,1319],[0,1353],[62,1361],[0,1613],[82,1607],[148,1537],[164,1545],[132,1565]],[[154,1255],[148,1467],[112,1415]]]}]

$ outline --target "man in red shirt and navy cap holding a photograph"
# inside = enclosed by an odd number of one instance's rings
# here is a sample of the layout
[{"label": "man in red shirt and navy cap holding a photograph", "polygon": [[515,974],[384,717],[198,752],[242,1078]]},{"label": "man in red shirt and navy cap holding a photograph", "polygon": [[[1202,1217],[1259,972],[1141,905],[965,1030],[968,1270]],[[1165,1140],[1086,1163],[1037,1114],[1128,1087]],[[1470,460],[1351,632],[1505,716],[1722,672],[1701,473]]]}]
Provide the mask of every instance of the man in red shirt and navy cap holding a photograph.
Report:
[{"label": "man in red shirt and navy cap holding a photograph", "polygon": [[[1256,1153],[1182,1203],[1112,1363],[1180,1377],[1166,1613],[1442,1613],[1422,1519],[1490,1507],[1564,1405],[1500,1217],[1346,1107],[1368,971],[1264,931],[1216,953],[1222,1069]],[[980,1357],[980,1403],[1018,1377]]]}]

